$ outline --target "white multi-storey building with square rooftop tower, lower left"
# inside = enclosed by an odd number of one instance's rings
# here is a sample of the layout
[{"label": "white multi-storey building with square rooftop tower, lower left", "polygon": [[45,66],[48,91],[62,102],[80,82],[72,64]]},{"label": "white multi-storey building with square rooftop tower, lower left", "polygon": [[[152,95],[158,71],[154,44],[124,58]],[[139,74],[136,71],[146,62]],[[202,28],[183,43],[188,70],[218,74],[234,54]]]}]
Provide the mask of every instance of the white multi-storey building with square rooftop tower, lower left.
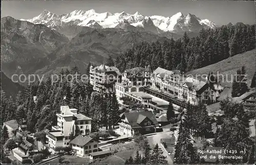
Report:
[{"label": "white multi-storey building with square rooftop tower, lower left", "polygon": [[52,130],[46,135],[50,152],[54,153],[57,146],[69,146],[72,134],[87,135],[91,132],[92,119],[77,113],[77,109],[61,106],[60,113],[56,115],[57,126],[52,126]]}]

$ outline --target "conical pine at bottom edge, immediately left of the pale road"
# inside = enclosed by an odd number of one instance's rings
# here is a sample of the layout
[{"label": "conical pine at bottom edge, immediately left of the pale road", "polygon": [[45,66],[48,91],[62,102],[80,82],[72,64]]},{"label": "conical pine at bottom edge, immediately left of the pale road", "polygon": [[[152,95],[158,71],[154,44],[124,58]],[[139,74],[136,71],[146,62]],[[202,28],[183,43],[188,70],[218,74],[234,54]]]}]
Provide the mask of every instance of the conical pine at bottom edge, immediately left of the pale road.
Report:
[{"label": "conical pine at bottom edge, immediately left of the pale road", "polygon": [[163,156],[163,151],[158,147],[158,144],[153,149],[150,161],[152,164],[167,164],[166,156]]}]

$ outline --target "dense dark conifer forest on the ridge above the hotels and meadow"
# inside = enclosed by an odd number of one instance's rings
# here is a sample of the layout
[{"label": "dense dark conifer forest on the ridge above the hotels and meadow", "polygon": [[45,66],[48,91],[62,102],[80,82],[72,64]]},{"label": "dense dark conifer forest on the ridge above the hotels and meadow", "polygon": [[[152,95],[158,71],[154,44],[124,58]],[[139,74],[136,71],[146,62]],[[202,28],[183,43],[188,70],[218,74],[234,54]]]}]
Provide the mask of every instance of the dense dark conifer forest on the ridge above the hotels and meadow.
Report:
[{"label": "dense dark conifer forest on the ridge above the hotels and meadow", "polygon": [[177,40],[143,42],[118,56],[115,66],[123,72],[151,64],[153,69],[159,66],[185,73],[252,49],[255,49],[255,25],[238,24],[202,29],[193,38],[189,38],[185,32]]}]

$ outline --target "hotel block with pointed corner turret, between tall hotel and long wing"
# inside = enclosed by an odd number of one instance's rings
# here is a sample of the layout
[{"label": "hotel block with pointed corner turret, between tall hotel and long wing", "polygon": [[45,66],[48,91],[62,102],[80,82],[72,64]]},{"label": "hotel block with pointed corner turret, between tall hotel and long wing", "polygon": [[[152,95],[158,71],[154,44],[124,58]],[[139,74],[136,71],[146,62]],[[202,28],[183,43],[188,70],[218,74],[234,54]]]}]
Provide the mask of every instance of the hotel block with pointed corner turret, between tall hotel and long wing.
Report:
[{"label": "hotel block with pointed corner turret, between tall hotel and long wing", "polygon": [[143,67],[134,67],[126,69],[122,75],[122,81],[116,83],[116,96],[122,98],[124,93],[143,92],[143,87],[150,83],[150,74],[152,68],[150,65]]}]

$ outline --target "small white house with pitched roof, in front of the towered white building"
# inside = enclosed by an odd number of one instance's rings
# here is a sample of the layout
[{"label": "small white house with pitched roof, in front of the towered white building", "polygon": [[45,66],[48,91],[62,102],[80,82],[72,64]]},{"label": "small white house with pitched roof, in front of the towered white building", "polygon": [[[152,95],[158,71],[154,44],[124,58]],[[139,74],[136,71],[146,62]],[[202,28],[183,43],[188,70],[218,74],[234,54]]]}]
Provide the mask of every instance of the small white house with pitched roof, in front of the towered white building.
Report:
[{"label": "small white house with pitched roof, in front of the towered white building", "polygon": [[98,141],[86,135],[78,135],[70,144],[73,152],[79,156],[86,156],[92,152],[98,152]]}]

